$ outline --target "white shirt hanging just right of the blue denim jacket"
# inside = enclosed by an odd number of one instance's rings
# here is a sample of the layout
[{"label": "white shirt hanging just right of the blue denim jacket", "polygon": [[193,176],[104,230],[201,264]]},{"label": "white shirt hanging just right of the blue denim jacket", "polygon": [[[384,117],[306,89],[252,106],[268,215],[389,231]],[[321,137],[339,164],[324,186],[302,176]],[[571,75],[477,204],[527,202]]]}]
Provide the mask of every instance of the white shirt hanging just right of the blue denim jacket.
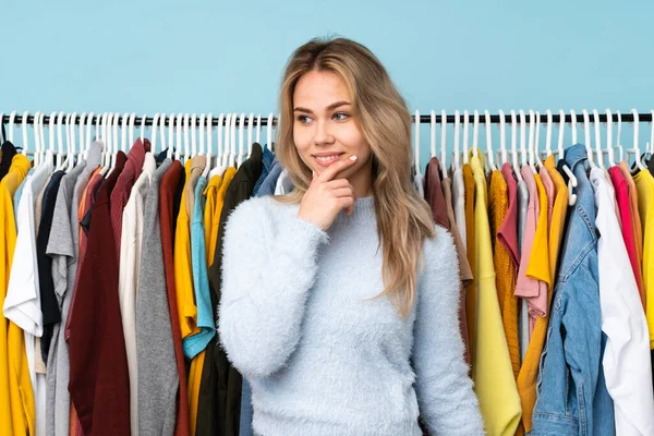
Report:
[{"label": "white shirt hanging just right of the blue denim jacket", "polygon": [[613,186],[591,170],[600,231],[600,305],[606,349],[602,365],[614,400],[616,435],[654,435],[654,395],[647,322],[615,213]]}]

